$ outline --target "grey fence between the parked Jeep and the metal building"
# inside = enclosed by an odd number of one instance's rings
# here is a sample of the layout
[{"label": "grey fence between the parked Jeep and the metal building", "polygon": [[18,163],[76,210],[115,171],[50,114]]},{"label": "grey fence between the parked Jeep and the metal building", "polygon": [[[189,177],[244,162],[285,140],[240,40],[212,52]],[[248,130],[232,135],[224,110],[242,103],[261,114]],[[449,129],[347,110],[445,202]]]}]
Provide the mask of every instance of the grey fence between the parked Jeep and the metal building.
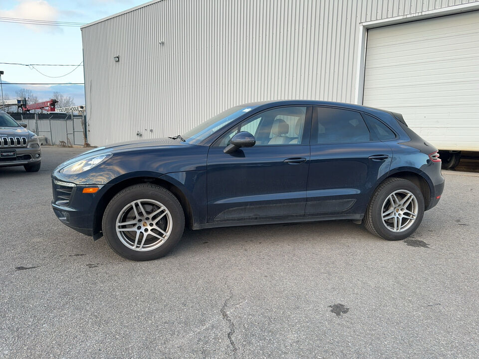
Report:
[{"label": "grey fence between the parked Jeep and the metal building", "polygon": [[38,137],[45,138],[45,144],[84,146],[88,143],[86,117],[73,113],[10,113],[17,122],[27,124],[27,129]]}]

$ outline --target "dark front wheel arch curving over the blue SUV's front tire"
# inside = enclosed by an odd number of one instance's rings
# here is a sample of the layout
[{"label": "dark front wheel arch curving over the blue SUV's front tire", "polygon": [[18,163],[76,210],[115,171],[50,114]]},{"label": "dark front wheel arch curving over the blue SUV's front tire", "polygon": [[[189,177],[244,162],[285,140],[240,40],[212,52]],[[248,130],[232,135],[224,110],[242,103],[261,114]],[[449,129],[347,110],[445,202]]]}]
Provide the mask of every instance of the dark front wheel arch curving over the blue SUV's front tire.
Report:
[{"label": "dark front wheel arch curving over the blue SUV's front tire", "polygon": [[190,204],[190,201],[184,194],[184,192],[177,185],[161,178],[149,177],[149,176],[140,176],[140,177],[131,177],[128,179],[123,179],[115,184],[113,184],[108,190],[103,193],[101,198],[96,205],[94,216],[93,216],[93,239],[98,239],[101,237],[100,233],[102,232],[101,222],[103,218],[103,213],[105,212],[106,206],[110,200],[122,189],[129,187],[134,184],[139,183],[153,183],[161,187],[168,189],[180,202],[183,212],[185,213],[185,223],[188,223],[190,226],[193,224],[193,211]]}]

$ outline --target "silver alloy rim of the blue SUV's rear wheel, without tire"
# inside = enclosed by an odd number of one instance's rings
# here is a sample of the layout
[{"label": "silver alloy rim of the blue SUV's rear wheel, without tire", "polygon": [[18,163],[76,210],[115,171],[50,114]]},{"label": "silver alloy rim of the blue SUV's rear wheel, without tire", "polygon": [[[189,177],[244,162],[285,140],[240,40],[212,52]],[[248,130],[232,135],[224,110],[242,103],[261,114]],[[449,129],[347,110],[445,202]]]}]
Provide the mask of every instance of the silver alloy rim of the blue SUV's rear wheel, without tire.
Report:
[{"label": "silver alloy rim of the blue SUV's rear wheel, without tire", "polygon": [[403,232],[411,227],[419,212],[416,196],[406,189],[391,193],[383,203],[381,218],[392,232]]}]

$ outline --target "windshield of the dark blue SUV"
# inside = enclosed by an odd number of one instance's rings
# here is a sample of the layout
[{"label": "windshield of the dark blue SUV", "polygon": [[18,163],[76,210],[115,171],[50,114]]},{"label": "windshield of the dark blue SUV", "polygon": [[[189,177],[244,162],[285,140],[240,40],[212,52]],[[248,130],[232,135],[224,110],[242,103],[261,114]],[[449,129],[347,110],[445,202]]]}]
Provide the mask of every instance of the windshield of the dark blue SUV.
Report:
[{"label": "windshield of the dark blue SUV", "polygon": [[228,110],[223,111],[222,113],[212,117],[208,121],[199,124],[192,130],[182,135],[182,137],[186,140],[186,142],[190,144],[198,144],[201,141],[205,140],[208,136],[213,134],[215,131],[230,124],[241,115],[244,115],[246,112],[252,110],[254,107],[256,106],[244,107],[244,105],[240,105],[229,108]]}]

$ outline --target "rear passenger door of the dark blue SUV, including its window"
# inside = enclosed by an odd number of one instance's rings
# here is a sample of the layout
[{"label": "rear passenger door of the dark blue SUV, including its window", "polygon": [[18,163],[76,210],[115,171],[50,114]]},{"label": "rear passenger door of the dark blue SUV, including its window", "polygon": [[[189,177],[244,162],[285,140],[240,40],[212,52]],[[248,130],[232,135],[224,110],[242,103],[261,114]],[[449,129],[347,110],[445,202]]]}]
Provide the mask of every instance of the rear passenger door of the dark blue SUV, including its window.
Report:
[{"label": "rear passenger door of the dark blue SUV, including its window", "polygon": [[360,112],[315,107],[305,215],[364,213],[377,180],[389,172],[392,155],[371,135]]}]

